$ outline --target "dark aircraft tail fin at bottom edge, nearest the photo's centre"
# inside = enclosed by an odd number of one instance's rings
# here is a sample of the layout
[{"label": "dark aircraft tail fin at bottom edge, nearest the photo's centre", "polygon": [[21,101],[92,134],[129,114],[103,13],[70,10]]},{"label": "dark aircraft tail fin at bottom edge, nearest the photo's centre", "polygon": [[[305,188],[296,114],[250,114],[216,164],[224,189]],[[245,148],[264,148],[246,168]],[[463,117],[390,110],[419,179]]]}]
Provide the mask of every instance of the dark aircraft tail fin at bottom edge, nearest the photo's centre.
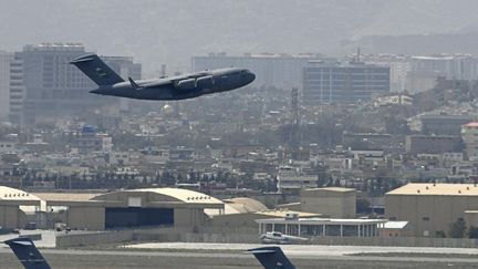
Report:
[{"label": "dark aircraft tail fin at bottom edge, nearest the photo's centre", "polygon": [[248,252],[253,254],[266,269],[295,269],[279,247],[254,248],[249,249]]}]

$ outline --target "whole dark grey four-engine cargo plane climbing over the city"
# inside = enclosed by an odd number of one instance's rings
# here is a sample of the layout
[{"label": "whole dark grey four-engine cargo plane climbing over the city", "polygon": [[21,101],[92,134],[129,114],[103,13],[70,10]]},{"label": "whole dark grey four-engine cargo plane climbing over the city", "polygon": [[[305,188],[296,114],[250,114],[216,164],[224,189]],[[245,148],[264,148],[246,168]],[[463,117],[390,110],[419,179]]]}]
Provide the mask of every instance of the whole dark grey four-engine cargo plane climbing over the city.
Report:
[{"label": "whole dark grey four-engine cargo plane climbing over the city", "polygon": [[226,92],[251,83],[256,75],[247,69],[218,69],[155,80],[124,81],[96,54],[70,62],[98,85],[91,93],[139,100],[185,100]]}]

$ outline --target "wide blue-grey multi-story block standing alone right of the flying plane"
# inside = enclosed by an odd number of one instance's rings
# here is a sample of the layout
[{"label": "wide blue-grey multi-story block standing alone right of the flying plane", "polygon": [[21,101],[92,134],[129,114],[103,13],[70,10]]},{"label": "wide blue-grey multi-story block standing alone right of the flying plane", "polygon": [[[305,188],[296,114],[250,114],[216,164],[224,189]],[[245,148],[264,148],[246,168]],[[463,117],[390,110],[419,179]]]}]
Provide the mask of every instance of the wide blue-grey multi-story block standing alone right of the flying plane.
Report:
[{"label": "wide blue-grey multi-story block standing alone right of the flying plane", "polygon": [[389,92],[389,66],[310,62],[303,69],[302,104],[355,103]]}]

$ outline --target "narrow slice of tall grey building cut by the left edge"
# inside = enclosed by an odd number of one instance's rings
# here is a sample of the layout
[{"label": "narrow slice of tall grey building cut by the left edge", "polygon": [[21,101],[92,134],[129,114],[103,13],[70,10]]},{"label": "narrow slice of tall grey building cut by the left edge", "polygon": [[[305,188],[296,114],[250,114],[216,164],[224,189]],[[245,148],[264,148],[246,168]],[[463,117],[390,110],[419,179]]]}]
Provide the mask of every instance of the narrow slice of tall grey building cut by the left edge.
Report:
[{"label": "narrow slice of tall grey building cut by the left edge", "polygon": [[10,107],[10,63],[13,53],[0,51],[0,120],[8,118]]}]

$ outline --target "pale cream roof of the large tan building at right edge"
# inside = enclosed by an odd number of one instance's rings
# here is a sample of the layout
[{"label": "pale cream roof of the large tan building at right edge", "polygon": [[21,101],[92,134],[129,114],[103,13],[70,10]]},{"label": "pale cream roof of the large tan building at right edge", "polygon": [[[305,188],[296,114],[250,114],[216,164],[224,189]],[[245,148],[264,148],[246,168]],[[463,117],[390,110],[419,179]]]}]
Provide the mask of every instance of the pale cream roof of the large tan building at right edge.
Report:
[{"label": "pale cream roof of the large tan building at right edge", "polygon": [[405,186],[388,192],[386,195],[478,196],[478,185],[448,183],[409,183]]}]

